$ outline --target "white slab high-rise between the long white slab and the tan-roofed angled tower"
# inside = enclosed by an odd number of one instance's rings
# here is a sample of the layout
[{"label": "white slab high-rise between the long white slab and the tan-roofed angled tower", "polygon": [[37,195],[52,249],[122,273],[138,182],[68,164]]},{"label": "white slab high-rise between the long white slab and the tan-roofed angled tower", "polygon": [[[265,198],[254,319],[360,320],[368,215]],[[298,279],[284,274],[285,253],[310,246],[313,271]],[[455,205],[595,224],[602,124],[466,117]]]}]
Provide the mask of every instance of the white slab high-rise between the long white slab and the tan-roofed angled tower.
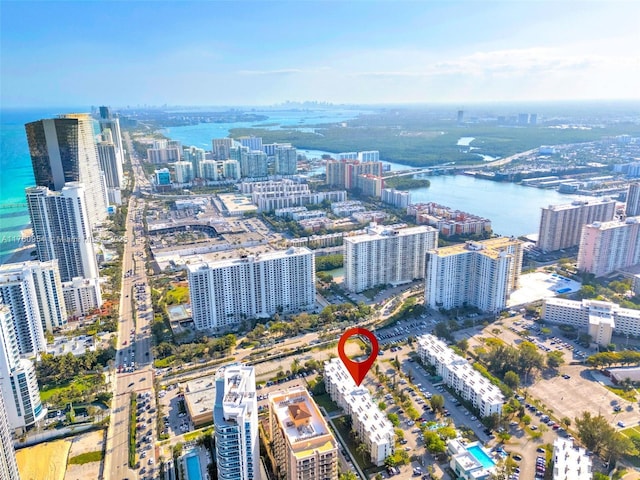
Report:
[{"label": "white slab high-rise between the long white slab and the tan-roofed angled tower", "polygon": [[372,226],[367,233],[344,238],[344,284],[352,292],[379,285],[400,285],[424,278],[427,251],[438,245],[432,227]]}]

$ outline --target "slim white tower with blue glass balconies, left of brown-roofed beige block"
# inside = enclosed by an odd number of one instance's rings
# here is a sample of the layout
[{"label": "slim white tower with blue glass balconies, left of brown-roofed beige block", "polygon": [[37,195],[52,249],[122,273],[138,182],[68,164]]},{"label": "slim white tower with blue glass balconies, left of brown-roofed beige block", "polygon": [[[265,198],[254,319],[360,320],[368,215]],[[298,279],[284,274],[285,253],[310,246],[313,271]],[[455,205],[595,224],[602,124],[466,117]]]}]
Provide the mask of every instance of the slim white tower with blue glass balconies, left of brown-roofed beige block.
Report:
[{"label": "slim white tower with blue glass balconies, left of brown-roofed beige block", "polygon": [[213,407],[220,480],[260,480],[258,401],[253,367],[231,365],[216,374]]}]

